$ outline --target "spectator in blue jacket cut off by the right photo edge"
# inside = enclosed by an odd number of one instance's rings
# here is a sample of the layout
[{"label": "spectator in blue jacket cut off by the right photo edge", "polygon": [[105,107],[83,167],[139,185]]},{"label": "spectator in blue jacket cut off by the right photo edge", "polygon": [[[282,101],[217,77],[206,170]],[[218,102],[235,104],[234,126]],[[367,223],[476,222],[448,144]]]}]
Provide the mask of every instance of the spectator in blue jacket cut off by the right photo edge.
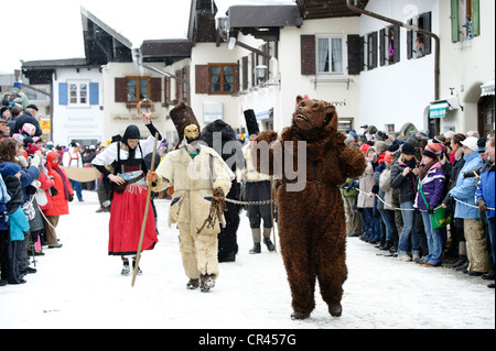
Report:
[{"label": "spectator in blue jacket cut off by the right photo edge", "polygon": [[[481,173],[481,182],[478,184],[477,191],[475,196],[477,198],[477,206],[481,212],[486,212],[488,234],[492,246],[492,257],[493,266],[495,265],[495,178],[494,178],[494,165],[495,165],[495,152],[494,152],[494,131],[489,134],[489,139],[486,142],[486,157],[490,164],[489,167],[483,169]],[[484,172],[485,171],[485,172]],[[494,279],[494,272],[493,272]],[[489,284],[488,287],[494,288],[494,283]]]}]

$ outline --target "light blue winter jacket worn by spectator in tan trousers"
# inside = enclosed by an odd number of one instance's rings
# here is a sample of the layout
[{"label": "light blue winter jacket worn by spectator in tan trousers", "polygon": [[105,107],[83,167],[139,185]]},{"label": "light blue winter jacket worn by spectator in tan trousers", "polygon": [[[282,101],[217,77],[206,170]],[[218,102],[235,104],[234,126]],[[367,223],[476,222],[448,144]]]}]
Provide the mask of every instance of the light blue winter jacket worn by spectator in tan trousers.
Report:
[{"label": "light blue winter jacket worn by spectator in tan trousers", "polygon": [[[475,205],[476,188],[474,185],[474,178],[464,178],[463,174],[465,172],[474,171],[475,168],[481,168],[483,166],[483,162],[478,152],[473,152],[463,158],[465,158],[465,164],[459,173],[455,187],[450,190],[450,195],[459,200],[456,201],[454,217],[477,219],[478,207]],[[464,205],[460,201],[472,206]]]}]

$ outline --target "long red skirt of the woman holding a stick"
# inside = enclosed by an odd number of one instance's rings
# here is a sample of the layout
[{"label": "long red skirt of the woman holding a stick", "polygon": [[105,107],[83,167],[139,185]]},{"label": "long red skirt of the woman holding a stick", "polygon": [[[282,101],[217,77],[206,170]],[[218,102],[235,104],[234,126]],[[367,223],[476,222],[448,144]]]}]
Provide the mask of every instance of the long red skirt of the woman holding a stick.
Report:
[{"label": "long red skirt of the woman holding a stick", "polygon": [[[128,185],[122,194],[114,193],[110,207],[109,255],[136,255],[147,205],[147,185]],[[153,250],[159,242],[153,208],[150,204],[141,251]]]}]

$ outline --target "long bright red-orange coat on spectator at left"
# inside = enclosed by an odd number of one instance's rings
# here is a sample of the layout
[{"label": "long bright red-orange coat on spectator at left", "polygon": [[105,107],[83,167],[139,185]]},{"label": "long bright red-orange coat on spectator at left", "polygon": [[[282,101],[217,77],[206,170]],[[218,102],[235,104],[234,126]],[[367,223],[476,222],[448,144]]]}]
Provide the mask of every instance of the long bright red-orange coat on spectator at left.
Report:
[{"label": "long bright red-orange coat on spectator at left", "polygon": [[[55,160],[58,157],[57,160]],[[74,191],[71,187],[67,175],[64,169],[58,167],[61,157],[56,152],[50,152],[46,155],[46,169],[48,169],[48,176],[53,177],[55,183],[55,188],[57,189],[57,195],[52,196],[52,208],[45,210],[45,216],[62,216],[68,215],[68,196],[73,195]]]}]

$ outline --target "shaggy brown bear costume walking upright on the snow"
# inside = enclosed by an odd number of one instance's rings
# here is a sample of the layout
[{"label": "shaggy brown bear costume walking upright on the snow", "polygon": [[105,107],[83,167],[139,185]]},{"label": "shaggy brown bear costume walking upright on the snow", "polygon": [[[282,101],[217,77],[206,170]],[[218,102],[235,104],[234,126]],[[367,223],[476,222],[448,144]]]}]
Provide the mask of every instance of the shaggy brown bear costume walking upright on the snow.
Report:
[{"label": "shaggy brown bear costume walking upright on the snow", "polygon": [[[254,149],[254,160],[258,172],[280,177],[278,223],[292,295],[291,318],[310,317],[315,307],[315,278],[330,314],[339,317],[347,268],[345,212],[338,186],[364,173],[365,157],[359,149],[345,145],[334,106],[300,96],[296,103],[292,125],[282,131],[279,140],[272,131],[257,138],[257,142],[270,145],[268,162],[263,162],[267,155],[260,149]],[[284,150],[288,141],[293,142],[293,147]],[[301,191],[289,190],[288,185],[295,182],[282,172],[281,164],[289,152],[296,168],[298,141],[306,142],[306,184]]]}]

